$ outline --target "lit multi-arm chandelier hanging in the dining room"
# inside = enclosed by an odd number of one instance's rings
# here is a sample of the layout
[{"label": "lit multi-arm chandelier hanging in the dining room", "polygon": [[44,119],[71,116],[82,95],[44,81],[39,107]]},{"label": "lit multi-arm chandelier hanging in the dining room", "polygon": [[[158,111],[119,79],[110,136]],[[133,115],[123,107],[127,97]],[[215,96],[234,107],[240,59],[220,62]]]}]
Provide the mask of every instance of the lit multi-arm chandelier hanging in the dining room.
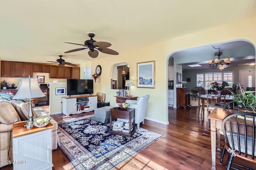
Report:
[{"label": "lit multi-arm chandelier hanging in the dining room", "polygon": [[[213,48],[215,48],[214,46],[212,46]],[[209,64],[209,67],[212,68],[212,69],[220,69],[220,70],[223,70],[224,68],[228,68],[228,65],[229,63],[231,63],[230,61],[230,58],[225,58],[224,60],[220,59],[220,48],[215,48],[215,49],[218,49],[219,52],[218,52],[218,58],[215,58],[215,60],[209,60],[208,64]]]}]

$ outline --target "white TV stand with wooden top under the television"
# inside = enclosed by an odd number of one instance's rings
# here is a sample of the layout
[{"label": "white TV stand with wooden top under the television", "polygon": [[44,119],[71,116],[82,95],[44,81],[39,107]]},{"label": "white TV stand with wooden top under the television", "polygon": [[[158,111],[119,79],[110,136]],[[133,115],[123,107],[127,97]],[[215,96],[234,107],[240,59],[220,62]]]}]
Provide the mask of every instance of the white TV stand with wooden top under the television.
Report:
[{"label": "white TV stand with wooden top under the television", "polygon": [[62,97],[62,113],[66,116],[90,112],[97,108],[98,96],[79,95]]}]

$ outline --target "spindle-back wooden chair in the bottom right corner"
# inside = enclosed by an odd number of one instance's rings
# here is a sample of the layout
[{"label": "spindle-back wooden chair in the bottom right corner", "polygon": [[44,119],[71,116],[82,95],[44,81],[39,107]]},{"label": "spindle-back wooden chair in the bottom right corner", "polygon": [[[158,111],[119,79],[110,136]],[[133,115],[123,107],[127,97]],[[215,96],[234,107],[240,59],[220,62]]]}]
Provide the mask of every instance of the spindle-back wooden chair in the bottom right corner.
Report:
[{"label": "spindle-back wooden chair in the bottom right corner", "polygon": [[[233,163],[232,161],[235,156],[256,164],[255,121],[256,114],[250,112],[230,114],[223,119],[222,131],[225,137],[225,143],[220,164],[222,164],[225,152],[228,151],[229,156],[226,163],[226,170],[230,170],[230,168],[237,169],[237,166],[251,170],[246,165]],[[236,167],[231,167],[232,165]]]}]

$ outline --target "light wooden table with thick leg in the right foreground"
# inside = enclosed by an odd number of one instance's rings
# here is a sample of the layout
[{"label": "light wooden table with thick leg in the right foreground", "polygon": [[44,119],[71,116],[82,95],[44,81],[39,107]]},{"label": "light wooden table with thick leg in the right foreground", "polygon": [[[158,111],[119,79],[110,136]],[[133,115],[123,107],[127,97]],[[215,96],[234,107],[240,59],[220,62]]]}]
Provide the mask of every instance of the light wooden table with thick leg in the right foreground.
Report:
[{"label": "light wooden table with thick leg in the right foreground", "polygon": [[222,120],[230,115],[233,114],[234,110],[232,109],[222,109],[222,108],[215,108],[207,118],[210,119],[210,126],[211,126],[211,151],[212,151],[212,170],[216,170],[216,136],[217,136],[217,153],[220,154],[220,129],[222,125]]}]

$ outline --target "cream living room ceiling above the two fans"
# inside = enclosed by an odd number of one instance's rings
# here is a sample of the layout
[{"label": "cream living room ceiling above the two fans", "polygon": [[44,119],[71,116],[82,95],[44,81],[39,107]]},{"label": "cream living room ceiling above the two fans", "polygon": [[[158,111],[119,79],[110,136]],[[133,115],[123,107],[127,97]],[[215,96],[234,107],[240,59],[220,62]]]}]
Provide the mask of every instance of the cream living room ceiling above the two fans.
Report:
[{"label": "cream living room ceiling above the two fans", "polygon": [[109,56],[64,54],[82,47],[64,42],[84,44],[88,32],[121,54],[255,16],[255,0],[1,0],[0,60],[47,63],[61,54],[79,64]]}]

